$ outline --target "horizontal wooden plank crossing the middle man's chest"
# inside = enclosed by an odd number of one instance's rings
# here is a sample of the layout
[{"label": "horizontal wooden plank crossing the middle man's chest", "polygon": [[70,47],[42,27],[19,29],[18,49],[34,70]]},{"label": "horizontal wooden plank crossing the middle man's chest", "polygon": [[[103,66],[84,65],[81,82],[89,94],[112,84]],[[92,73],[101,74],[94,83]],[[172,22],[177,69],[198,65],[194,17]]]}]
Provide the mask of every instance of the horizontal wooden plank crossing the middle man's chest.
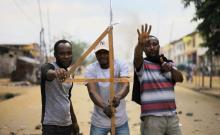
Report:
[{"label": "horizontal wooden plank crossing the middle man's chest", "polygon": [[76,79],[67,79],[65,82],[130,82],[129,78],[98,78],[98,79],[88,79],[88,78],[76,78]]}]

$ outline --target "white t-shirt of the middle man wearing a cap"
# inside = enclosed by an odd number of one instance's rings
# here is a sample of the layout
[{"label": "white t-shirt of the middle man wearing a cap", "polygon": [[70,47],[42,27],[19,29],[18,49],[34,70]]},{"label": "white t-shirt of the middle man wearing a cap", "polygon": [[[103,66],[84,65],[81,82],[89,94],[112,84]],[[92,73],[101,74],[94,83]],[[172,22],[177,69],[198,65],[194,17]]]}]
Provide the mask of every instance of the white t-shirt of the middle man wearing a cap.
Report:
[{"label": "white t-shirt of the middle man wearing a cap", "polygon": [[[115,60],[114,61],[114,76],[115,78],[128,76],[128,65],[124,61]],[[86,78],[110,78],[109,69],[102,69],[98,63],[98,61],[92,63],[87,67]],[[115,94],[120,90],[120,83],[115,84]],[[98,93],[102,97],[105,103],[108,103],[110,98],[110,83],[109,82],[98,82],[97,88]],[[120,105],[116,108],[115,113],[116,118],[116,127],[123,125],[128,121],[125,100],[122,99],[120,101]],[[102,127],[102,128],[110,128],[111,127],[111,119],[109,119],[104,113],[102,108],[94,105],[94,111],[92,114],[91,123],[94,126]]]}]

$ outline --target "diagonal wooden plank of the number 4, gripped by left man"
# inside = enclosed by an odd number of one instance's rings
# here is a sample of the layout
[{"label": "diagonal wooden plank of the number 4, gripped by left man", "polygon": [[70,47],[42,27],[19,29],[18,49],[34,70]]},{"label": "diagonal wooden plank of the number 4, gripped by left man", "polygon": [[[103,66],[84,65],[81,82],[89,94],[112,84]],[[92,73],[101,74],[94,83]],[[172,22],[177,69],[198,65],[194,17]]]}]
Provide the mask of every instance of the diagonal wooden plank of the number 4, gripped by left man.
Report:
[{"label": "diagonal wooden plank of the number 4, gripped by left man", "polygon": [[108,34],[110,27],[106,28],[105,31],[96,39],[96,41],[87,49],[83,55],[77,59],[77,61],[70,67],[67,76],[74,74],[76,68],[82,64],[83,60],[93,51],[93,49],[101,42],[101,40]]}]

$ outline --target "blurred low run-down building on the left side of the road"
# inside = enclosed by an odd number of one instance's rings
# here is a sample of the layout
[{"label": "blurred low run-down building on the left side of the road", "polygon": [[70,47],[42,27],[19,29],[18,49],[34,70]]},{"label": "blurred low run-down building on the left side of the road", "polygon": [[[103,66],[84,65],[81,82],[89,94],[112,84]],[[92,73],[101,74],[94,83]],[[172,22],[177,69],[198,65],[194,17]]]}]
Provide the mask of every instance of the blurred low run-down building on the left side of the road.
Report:
[{"label": "blurred low run-down building on the left side of the road", "polygon": [[[23,71],[36,70],[30,65],[34,65],[35,68],[39,67],[39,58],[40,58],[40,47],[37,43],[30,44],[0,44],[0,78],[2,77],[12,77],[19,76],[20,79],[16,81],[25,80],[26,73]],[[18,69],[18,64],[21,65],[23,61],[22,68]],[[29,63],[25,66],[24,63]],[[19,66],[21,67],[21,66]],[[23,73],[22,75],[16,75],[15,73]],[[30,76],[30,75],[27,75]],[[28,79],[27,79],[28,80]]]}]

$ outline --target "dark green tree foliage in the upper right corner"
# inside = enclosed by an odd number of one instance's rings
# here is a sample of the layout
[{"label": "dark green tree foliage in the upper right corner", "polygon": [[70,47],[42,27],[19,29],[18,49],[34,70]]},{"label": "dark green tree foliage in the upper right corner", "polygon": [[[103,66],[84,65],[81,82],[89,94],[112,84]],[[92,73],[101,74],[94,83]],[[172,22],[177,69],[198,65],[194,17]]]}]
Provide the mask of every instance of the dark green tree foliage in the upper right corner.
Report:
[{"label": "dark green tree foliage in the upper right corner", "polygon": [[182,0],[185,7],[195,5],[193,21],[201,21],[197,26],[204,38],[202,46],[209,47],[215,55],[220,55],[220,0]]}]

